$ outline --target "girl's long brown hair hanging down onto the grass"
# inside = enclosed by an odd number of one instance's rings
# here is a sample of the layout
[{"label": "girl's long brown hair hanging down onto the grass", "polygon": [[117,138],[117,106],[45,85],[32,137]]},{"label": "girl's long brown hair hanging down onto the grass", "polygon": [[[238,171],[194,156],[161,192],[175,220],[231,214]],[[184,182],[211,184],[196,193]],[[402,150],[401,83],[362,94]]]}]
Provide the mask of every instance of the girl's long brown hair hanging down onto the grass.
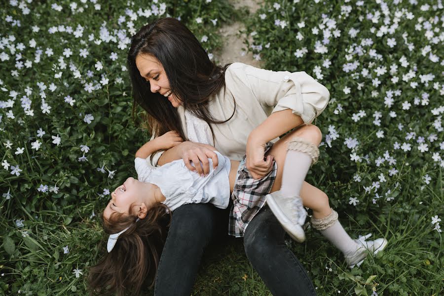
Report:
[{"label": "girl's long brown hair hanging down onto the grass", "polygon": [[90,295],[139,295],[143,286],[152,287],[166,240],[171,211],[162,203],[153,205],[144,219],[129,208],[129,215],[113,212],[102,215],[105,233],[122,233],[110,253],[89,269]]}]

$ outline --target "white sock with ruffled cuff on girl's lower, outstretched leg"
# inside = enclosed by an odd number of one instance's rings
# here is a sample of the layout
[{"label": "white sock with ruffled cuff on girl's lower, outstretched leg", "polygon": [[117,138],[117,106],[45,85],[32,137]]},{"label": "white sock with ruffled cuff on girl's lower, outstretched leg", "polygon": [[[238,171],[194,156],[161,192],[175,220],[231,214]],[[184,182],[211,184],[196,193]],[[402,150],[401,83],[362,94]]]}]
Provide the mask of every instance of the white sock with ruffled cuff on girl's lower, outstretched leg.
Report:
[{"label": "white sock with ruffled cuff on girl's lower, outstretched leg", "polygon": [[316,219],[311,217],[311,226],[319,230],[336,248],[344,255],[351,254],[358,249],[358,244],[345,232],[341,223],[337,219],[337,212],[332,209],[332,213],[327,217]]}]

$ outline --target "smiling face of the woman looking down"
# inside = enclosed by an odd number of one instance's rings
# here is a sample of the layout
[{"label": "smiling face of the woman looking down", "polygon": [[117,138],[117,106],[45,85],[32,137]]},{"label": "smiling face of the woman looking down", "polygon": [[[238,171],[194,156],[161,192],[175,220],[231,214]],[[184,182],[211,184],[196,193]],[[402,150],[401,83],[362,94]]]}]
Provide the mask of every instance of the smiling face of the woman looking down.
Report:
[{"label": "smiling face of the woman looking down", "polygon": [[149,81],[151,92],[158,92],[168,99],[173,107],[179,107],[182,102],[171,93],[170,83],[162,64],[152,55],[141,53],[136,56],[136,66],[140,75]]}]

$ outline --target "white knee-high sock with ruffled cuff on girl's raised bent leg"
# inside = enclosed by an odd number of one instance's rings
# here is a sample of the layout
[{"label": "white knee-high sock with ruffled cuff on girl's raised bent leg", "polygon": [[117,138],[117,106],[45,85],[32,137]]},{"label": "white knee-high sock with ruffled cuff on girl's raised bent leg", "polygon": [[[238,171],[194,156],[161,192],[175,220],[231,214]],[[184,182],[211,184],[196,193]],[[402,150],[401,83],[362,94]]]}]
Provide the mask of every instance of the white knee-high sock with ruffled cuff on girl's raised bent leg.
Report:
[{"label": "white knee-high sock with ruffled cuff on girl's raised bent leg", "polygon": [[304,138],[296,137],[289,141],[280,190],[283,196],[299,196],[305,176],[318,157],[318,147]]}]

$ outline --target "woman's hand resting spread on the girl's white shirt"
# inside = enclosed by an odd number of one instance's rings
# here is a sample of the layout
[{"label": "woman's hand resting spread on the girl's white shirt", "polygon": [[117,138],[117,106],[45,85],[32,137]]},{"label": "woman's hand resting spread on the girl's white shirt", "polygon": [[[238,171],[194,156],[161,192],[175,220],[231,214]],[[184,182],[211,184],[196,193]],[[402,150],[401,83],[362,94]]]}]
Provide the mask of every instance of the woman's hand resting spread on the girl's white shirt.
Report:
[{"label": "woman's hand resting spread on the girl's white shirt", "polygon": [[[214,150],[216,148],[208,144],[186,141],[181,144],[180,154],[186,168],[196,171],[201,176],[205,176],[210,172],[209,158],[213,160],[213,169],[219,165],[218,155]],[[191,162],[193,162],[195,167],[191,165]]]}]

